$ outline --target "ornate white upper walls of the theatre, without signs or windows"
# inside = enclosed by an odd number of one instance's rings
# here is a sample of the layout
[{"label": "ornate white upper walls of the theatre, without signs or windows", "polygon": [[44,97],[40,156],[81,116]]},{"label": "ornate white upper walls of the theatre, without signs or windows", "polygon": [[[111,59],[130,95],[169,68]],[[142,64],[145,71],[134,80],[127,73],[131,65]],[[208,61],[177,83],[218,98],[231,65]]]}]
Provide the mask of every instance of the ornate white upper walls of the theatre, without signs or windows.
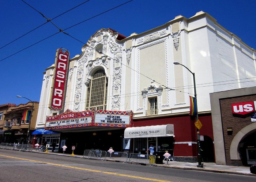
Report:
[{"label": "ornate white upper walls of the theatre, without signs or windows", "polygon": [[[177,16],[146,32],[122,40],[117,37],[117,32],[101,29],[83,46],[82,54],[69,60],[61,113],[85,110],[87,87],[99,68],[108,78],[107,110],[132,110],[134,118],[147,116],[148,98],[153,96],[158,116],[189,113],[193,77],[173,62],[195,73],[199,113],[211,112],[209,93],[255,86],[255,50],[207,13],[198,12],[189,19]],[[48,107],[53,75],[54,65],[44,72],[38,128],[53,114]]]}]

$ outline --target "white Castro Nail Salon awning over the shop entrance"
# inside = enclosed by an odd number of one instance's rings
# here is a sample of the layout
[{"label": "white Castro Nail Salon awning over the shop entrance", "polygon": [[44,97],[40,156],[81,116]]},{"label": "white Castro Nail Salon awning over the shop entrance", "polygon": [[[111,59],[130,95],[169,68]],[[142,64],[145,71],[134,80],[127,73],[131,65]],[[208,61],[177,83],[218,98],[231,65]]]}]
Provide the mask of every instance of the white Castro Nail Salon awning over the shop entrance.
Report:
[{"label": "white Castro Nail Salon awning over the shop entrance", "polygon": [[131,127],[124,130],[124,138],[175,137],[173,124]]}]

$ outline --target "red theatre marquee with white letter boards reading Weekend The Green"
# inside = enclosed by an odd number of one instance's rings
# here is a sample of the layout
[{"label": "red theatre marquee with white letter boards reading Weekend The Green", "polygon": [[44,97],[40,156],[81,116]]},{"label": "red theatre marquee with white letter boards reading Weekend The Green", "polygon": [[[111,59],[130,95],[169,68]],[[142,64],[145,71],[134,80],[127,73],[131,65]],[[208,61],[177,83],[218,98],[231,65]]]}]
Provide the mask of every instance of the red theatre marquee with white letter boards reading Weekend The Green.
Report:
[{"label": "red theatre marquee with white letter boards reading Weekend The Green", "polygon": [[109,130],[132,127],[132,111],[89,110],[48,116],[45,129],[60,132]]}]

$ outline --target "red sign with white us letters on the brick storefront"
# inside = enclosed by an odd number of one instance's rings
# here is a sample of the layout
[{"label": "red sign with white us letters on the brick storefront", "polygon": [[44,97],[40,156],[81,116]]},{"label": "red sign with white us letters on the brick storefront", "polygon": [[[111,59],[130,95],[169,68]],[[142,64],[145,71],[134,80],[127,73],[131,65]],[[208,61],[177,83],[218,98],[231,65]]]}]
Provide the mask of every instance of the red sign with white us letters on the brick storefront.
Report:
[{"label": "red sign with white us letters on the brick storefront", "polygon": [[253,102],[234,103],[234,104],[231,104],[231,106],[232,106],[233,114],[245,115],[245,114],[255,111]]}]

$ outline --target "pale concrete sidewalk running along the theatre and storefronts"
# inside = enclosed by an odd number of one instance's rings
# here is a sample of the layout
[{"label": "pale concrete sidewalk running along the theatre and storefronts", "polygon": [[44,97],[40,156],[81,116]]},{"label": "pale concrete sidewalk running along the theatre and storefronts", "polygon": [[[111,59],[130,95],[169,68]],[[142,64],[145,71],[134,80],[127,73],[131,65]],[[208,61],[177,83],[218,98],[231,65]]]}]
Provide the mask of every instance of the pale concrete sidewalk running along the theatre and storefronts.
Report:
[{"label": "pale concrete sidewalk running along the theatre and storefronts", "polygon": [[[33,151],[39,152],[39,151]],[[42,152],[39,152],[42,153]],[[49,155],[63,155],[67,157],[77,157],[82,158],[83,155],[71,155],[71,154],[61,154],[61,153],[52,153],[48,152],[45,154]],[[118,162],[116,160],[108,159],[107,161],[111,162]],[[214,172],[214,173],[228,173],[228,174],[239,174],[239,175],[250,175],[255,176],[256,174],[250,173],[249,166],[223,166],[223,165],[216,165],[212,162],[205,162],[203,163],[203,167],[197,167],[198,163],[190,163],[190,162],[176,162],[176,161],[168,161],[168,165],[166,161],[163,161],[163,164],[155,164],[156,167],[165,167],[165,168],[173,168],[173,169],[183,169],[183,170],[197,170],[197,171],[207,171],[207,172]]]}]

